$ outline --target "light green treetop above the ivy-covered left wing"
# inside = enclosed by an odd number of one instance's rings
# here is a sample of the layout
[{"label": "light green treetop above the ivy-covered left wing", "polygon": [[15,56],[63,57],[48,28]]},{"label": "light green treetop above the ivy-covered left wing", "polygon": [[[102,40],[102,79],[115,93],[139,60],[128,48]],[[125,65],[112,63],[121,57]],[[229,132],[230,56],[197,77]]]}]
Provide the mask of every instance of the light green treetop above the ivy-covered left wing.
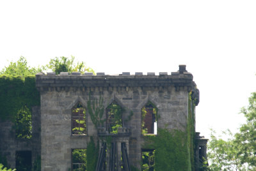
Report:
[{"label": "light green treetop above the ivy-covered left wing", "polygon": [[0,74],[12,75],[19,77],[27,77],[29,75],[35,75],[36,73],[44,70],[44,67],[33,68],[28,66],[28,62],[25,57],[20,56],[20,59],[17,62],[11,62],[9,66],[4,67]]}]

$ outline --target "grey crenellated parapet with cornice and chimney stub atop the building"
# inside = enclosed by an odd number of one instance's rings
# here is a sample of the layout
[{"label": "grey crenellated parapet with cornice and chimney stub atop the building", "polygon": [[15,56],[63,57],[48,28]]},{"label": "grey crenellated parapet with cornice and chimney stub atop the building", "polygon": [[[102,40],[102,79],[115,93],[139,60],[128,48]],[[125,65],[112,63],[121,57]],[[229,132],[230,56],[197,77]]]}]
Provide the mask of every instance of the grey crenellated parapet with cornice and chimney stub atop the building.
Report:
[{"label": "grey crenellated parapet with cornice and chimney stub atop the building", "polygon": [[163,91],[163,89],[171,90],[175,87],[175,91],[180,89],[193,92],[193,98],[199,100],[199,91],[193,82],[193,75],[186,71],[185,65],[179,66],[179,71],[159,72],[159,75],[148,72],[143,75],[136,72],[131,75],[129,72],[123,72],[119,75],[105,75],[105,73],[84,73],[79,72],[61,72],[60,75],[55,73],[36,74],[36,87],[38,91],[113,91],[113,89],[121,91],[129,91],[129,89],[146,89],[154,91]]}]

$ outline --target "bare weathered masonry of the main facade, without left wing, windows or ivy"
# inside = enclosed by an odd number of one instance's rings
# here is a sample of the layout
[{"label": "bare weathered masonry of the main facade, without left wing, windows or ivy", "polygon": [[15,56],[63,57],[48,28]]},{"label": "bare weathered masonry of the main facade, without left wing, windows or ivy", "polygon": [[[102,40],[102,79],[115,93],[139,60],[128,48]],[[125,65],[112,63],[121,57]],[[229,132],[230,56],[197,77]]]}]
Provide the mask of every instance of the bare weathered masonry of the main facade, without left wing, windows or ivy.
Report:
[{"label": "bare weathered masonry of the main facade, without left wing, windows or ivy", "polygon": [[[72,135],[72,107],[81,103],[86,108],[89,95],[92,99],[103,98],[105,109],[113,101],[125,108],[122,119],[126,121],[123,123],[126,130],[120,131],[126,131],[127,134],[114,138],[118,147],[125,142],[129,163],[138,168],[141,167],[141,148],[144,142],[141,135],[141,108],[148,101],[156,105],[157,114],[160,116],[157,128],[186,131],[189,92],[193,92],[193,98],[197,100],[196,105],[199,102],[199,91],[193,82],[193,75],[182,65],[179,71],[173,72],[172,75],[98,73],[92,76],[90,73],[80,75],[76,72],[71,75],[38,74],[36,87],[41,94],[41,163],[42,170],[45,171],[70,170],[72,149],[86,149],[91,136],[99,140],[99,136],[106,133],[106,128],[97,130],[90,115],[86,114],[86,135]],[[130,111],[133,115],[127,120]]]}]

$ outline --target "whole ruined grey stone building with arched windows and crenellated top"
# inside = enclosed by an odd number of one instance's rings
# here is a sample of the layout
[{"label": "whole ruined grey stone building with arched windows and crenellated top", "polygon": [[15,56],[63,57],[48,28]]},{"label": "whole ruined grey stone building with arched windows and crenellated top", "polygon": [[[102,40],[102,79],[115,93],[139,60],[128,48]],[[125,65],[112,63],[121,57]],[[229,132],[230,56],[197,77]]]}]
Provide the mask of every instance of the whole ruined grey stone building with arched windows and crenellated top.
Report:
[{"label": "whole ruined grey stone building with arched windows and crenellated top", "polygon": [[[86,165],[95,162],[95,170],[154,170],[166,162],[162,154],[170,156],[168,163],[181,163],[170,168],[202,168],[207,139],[195,133],[199,91],[184,65],[171,75],[38,73],[36,88],[33,138],[22,144],[1,131],[0,150],[12,167],[15,151],[30,151],[31,160],[40,151],[44,171],[79,170],[84,163],[73,154],[84,149]],[[1,123],[1,129],[9,125]]]}]

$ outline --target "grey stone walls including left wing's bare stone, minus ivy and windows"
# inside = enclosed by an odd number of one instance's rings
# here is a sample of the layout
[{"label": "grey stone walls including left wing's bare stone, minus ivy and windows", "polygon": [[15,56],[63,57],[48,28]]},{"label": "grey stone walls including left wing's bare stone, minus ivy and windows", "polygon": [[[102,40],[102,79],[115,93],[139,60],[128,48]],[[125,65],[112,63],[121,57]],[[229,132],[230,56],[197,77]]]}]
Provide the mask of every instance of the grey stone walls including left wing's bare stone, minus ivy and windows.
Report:
[{"label": "grey stone walls including left wing's bare stone, minus ivy and windows", "polygon": [[[15,153],[31,151],[32,163],[41,156],[41,170],[68,171],[72,170],[72,149],[86,149],[90,137],[95,142],[99,140],[100,147],[104,145],[104,137],[112,137],[116,148],[116,170],[124,161],[121,155],[127,152],[129,165],[141,168],[141,153],[145,143],[141,124],[148,122],[149,130],[164,128],[169,131],[187,131],[189,113],[189,93],[192,93],[195,105],[199,103],[199,91],[193,82],[193,75],[186,71],[186,66],[180,65],[179,71],[167,73],[122,73],[120,75],[105,75],[104,73],[79,72],[47,73],[36,75],[36,87],[40,91],[40,107],[33,107],[32,138],[20,140],[15,138],[13,123],[0,121],[0,152],[5,156],[12,168],[15,168]],[[88,113],[88,101],[102,100],[104,114],[101,125],[95,126]],[[156,118],[142,118],[142,108],[148,103],[157,108]],[[122,107],[122,128],[117,133],[108,130],[108,107],[112,103]],[[72,109],[79,104],[86,111],[86,133],[72,134]],[[152,108],[147,109],[153,113]],[[150,112],[147,115],[151,114]],[[195,115],[192,118],[195,123]],[[195,126],[195,125],[194,125]],[[156,127],[156,128],[154,128]],[[195,131],[195,130],[194,130]],[[74,133],[74,132],[73,132]],[[152,132],[153,133],[153,132]],[[157,134],[155,132],[155,134]],[[195,136],[195,170],[200,170],[203,157],[206,158],[207,139]],[[113,146],[114,147],[114,146]],[[125,147],[125,151],[122,151]],[[106,154],[106,158],[111,155]],[[122,156],[124,160],[124,156]],[[125,157],[126,158],[126,157]],[[111,170],[107,161],[106,170]],[[98,163],[97,170],[100,170]]]}]

